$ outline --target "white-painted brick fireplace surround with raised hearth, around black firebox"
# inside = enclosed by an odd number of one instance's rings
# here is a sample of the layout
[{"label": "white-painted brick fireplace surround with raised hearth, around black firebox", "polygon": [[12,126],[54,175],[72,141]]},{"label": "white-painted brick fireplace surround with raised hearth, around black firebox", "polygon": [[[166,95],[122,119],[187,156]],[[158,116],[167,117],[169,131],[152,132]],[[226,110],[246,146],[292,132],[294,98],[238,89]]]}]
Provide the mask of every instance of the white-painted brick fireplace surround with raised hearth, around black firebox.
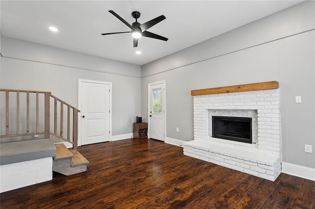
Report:
[{"label": "white-painted brick fireplace surround with raised hearth, around black firebox", "polygon": [[[266,88],[265,84],[271,82],[276,83],[276,87]],[[232,93],[213,93],[221,92],[220,88],[208,89],[210,94],[205,94],[207,91],[204,91],[202,95],[193,94],[192,91],[191,94],[195,95],[194,140],[184,143],[184,155],[275,181],[281,173],[281,126],[278,82],[271,82],[255,83],[254,86],[261,84],[259,88],[248,88],[252,84],[222,87],[224,92]],[[246,88],[242,88],[244,86]],[[233,87],[234,90],[230,90],[229,87]],[[246,89],[249,90],[244,91]],[[211,137],[212,133],[208,128],[211,115],[219,112],[221,115],[218,116],[228,116],[224,114],[227,112],[230,114],[230,110],[257,112],[257,117],[253,118],[257,123],[256,125],[253,123],[252,127],[252,137],[256,138],[255,144]],[[244,111],[240,112],[242,114]]]}]

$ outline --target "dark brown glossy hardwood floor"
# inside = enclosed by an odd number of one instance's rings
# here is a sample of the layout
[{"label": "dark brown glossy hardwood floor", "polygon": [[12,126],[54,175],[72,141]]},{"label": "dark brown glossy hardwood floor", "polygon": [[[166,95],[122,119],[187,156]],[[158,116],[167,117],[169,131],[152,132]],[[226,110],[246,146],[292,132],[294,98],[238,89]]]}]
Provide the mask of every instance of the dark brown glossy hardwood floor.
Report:
[{"label": "dark brown glossy hardwood floor", "polygon": [[79,147],[88,171],[3,192],[1,209],[312,209],[315,182],[275,182],[183,155],[181,147],[126,139]]}]

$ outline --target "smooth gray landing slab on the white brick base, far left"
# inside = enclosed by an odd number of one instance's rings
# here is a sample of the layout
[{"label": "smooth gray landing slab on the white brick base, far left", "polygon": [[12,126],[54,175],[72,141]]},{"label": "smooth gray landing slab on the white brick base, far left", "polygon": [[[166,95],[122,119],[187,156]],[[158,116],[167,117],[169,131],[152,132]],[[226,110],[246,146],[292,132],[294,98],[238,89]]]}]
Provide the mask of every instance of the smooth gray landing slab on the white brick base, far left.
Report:
[{"label": "smooth gray landing slab on the white brick base, far left", "polygon": [[0,143],[0,165],[54,157],[56,147],[50,139]]}]

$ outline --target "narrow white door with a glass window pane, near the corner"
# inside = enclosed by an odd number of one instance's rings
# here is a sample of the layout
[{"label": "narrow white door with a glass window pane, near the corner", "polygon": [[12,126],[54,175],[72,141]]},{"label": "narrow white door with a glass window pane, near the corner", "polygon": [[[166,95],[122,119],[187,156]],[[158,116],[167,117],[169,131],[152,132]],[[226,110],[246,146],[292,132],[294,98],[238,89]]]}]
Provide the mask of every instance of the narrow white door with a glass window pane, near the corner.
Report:
[{"label": "narrow white door with a glass window pane, near the corner", "polygon": [[165,141],[164,139],[164,82],[149,84],[149,125],[150,138]]}]

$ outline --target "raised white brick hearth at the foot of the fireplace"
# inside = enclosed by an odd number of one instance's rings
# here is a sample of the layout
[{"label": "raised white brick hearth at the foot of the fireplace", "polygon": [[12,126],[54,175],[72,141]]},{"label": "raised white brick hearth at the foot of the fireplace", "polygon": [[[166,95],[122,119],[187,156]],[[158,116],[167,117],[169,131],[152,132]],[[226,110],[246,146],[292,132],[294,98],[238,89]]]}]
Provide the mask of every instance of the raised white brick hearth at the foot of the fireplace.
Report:
[{"label": "raised white brick hearth at the foot of the fireplace", "polygon": [[196,140],[185,142],[183,147],[186,156],[212,162],[270,181],[275,181],[281,173],[281,159],[279,156]]}]

